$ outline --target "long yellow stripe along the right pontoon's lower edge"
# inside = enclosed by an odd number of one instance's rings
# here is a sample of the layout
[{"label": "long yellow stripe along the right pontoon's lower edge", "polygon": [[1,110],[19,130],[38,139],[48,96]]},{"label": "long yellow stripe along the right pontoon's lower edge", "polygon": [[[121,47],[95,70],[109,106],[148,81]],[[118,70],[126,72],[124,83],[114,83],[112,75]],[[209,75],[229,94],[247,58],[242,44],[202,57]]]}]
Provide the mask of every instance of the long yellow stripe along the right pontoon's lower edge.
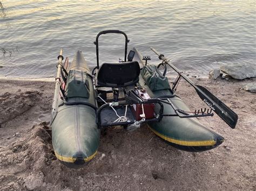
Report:
[{"label": "long yellow stripe along the right pontoon's lower edge", "polygon": [[157,136],[161,137],[164,140],[167,140],[167,142],[175,143],[177,145],[183,145],[183,146],[213,146],[216,144],[215,140],[204,140],[204,141],[185,141],[185,140],[177,140],[170,137],[166,137],[162,135],[161,133],[157,132],[156,130],[153,130],[149,125],[147,125],[151,131],[153,131]]}]

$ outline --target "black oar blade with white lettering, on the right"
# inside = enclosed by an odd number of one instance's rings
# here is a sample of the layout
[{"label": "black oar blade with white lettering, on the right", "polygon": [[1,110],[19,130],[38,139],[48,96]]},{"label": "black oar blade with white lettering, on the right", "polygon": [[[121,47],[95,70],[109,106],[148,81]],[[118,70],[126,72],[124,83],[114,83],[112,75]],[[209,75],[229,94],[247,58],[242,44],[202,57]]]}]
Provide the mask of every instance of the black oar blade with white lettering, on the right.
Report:
[{"label": "black oar blade with white lettering, on the right", "polygon": [[210,107],[221,119],[223,119],[223,121],[234,129],[238,121],[238,115],[205,87],[199,85],[196,85],[196,87],[198,88],[195,89],[197,90],[199,97],[208,105],[208,107]]}]

